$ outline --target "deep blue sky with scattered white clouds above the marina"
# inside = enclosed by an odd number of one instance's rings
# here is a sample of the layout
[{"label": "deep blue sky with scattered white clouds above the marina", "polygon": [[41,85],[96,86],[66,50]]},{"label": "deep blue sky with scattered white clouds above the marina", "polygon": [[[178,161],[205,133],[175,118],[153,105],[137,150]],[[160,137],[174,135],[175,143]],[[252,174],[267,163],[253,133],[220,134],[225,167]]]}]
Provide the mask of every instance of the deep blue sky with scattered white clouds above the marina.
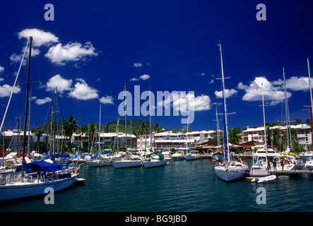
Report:
[{"label": "deep blue sky with scattered white clouds above the marina", "polygon": [[[44,17],[48,3],[54,6],[53,21]],[[256,20],[260,3],[266,6],[266,21]],[[219,40],[230,77],[225,80],[228,112],[236,112],[229,116],[230,128],[263,124],[261,83],[266,122],[285,120],[283,66],[290,119],[309,119],[304,105],[309,105],[307,58],[313,62],[310,1],[3,1],[0,23],[1,120],[29,35],[34,37],[30,81],[40,81],[30,84],[32,128],[45,123],[55,85],[64,117],[98,122],[101,102],[101,124],[116,120],[126,83],[132,94],[134,85],[155,94],[193,91],[196,112],[190,128],[215,129],[215,103],[222,101],[216,79]],[[15,128],[15,118],[23,115],[26,76],[27,61],[5,129]],[[179,129],[181,119],[158,116],[153,123]]]}]

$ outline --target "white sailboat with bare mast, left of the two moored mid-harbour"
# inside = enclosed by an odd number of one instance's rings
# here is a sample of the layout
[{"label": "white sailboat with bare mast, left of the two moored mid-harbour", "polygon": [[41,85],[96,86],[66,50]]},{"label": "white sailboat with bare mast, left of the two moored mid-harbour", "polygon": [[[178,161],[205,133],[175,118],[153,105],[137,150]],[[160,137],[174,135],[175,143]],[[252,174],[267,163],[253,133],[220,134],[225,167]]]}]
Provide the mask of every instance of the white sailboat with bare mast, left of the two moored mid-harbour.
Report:
[{"label": "white sailboat with bare mast, left of the two moored mid-harbour", "polygon": [[113,162],[113,166],[115,169],[120,169],[120,168],[129,168],[129,167],[141,167],[143,165],[143,160],[141,160],[141,157],[138,155],[130,155],[127,151],[127,130],[126,130],[126,125],[127,125],[127,108],[126,108],[126,83],[125,83],[125,88],[124,88],[124,101],[125,101],[125,151],[126,151],[126,156],[122,160],[117,160]]}]

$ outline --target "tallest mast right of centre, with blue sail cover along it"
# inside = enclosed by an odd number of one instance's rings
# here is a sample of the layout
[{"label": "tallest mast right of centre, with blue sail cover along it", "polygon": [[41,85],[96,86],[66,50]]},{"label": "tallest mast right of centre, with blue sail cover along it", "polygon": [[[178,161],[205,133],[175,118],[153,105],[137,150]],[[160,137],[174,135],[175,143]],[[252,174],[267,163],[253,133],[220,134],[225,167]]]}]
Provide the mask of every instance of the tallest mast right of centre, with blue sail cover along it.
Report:
[{"label": "tallest mast right of centre, with blue sail cover along it", "polygon": [[227,117],[227,107],[226,107],[226,98],[225,98],[225,81],[224,81],[224,69],[223,69],[223,55],[222,55],[222,44],[218,44],[220,47],[220,68],[222,72],[222,85],[223,85],[223,105],[224,105],[224,160],[228,163],[230,158],[229,154],[229,143],[228,143],[228,117]]}]

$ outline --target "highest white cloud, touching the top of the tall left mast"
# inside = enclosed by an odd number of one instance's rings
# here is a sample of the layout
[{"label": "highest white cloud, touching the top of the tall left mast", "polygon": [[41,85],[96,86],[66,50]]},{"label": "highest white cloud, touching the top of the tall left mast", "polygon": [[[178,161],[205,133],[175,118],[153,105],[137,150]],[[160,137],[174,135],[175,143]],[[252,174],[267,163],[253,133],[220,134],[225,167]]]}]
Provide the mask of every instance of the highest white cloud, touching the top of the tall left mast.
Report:
[{"label": "highest white cloud, touching the top of the tall left mast", "polygon": [[50,32],[45,32],[36,28],[33,29],[24,29],[18,32],[18,39],[26,38],[33,36],[33,46],[40,47],[41,45],[50,46],[54,42],[59,42],[59,38],[53,35]]}]

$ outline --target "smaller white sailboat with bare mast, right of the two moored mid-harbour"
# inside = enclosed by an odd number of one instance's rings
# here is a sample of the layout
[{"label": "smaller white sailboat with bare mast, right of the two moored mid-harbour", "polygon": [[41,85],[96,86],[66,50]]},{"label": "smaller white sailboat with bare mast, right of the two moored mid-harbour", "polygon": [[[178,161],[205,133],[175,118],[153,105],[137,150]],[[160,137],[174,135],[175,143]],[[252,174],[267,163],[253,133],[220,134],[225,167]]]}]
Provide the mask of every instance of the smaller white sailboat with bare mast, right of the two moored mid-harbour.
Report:
[{"label": "smaller white sailboat with bare mast, right of the two moored mid-harbour", "polygon": [[165,163],[167,162],[167,160],[165,160],[164,158],[164,155],[159,154],[159,153],[153,153],[150,93],[151,93],[151,90],[149,90],[149,117],[150,117],[150,150],[152,150],[152,152],[151,152],[150,157],[146,158],[146,160],[143,161],[143,165],[145,168],[161,167],[161,166],[164,166]]}]

